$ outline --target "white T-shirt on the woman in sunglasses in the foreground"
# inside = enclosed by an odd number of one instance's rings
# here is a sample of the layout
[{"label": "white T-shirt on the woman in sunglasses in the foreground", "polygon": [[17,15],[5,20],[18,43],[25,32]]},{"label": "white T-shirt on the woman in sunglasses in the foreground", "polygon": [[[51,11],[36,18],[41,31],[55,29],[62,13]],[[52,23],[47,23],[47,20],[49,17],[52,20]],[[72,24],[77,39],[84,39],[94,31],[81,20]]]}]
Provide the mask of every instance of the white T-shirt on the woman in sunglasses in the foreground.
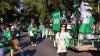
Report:
[{"label": "white T-shirt on the woman in sunglasses in the foreground", "polygon": [[56,38],[59,39],[59,42],[60,44],[57,45],[58,49],[57,49],[57,53],[60,53],[60,52],[67,52],[66,50],[66,46],[64,44],[64,37],[68,37],[68,38],[71,38],[71,36],[69,35],[68,32],[63,32],[63,33],[60,33],[59,32],[56,34]]}]

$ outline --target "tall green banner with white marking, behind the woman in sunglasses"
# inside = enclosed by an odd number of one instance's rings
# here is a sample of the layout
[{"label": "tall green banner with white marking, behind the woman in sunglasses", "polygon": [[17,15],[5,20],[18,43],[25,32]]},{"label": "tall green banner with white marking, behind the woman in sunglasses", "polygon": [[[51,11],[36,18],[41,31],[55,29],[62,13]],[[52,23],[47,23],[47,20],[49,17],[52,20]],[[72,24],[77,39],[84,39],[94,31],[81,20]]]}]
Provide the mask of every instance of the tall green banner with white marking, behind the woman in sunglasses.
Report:
[{"label": "tall green banner with white marking, behind the woman in sunglasses", "polygon": [[52,30],[54,32],[57,32],[60,29],[60,11],[54,12],[52,16],[53,16]]}]

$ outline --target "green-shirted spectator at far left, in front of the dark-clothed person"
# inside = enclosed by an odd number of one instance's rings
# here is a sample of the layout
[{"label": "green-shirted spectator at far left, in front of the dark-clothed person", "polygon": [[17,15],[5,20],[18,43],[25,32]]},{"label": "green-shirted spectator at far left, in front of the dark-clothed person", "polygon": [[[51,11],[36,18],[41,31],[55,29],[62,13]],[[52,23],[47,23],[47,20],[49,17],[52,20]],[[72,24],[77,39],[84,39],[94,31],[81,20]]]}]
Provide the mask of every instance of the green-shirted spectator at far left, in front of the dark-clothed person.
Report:
[{"label": "green-shirted spectator at far left, in front of the dark-clothed person", "polygon": [[4,34],[3,34],[3,36],[4,36],[4,41],[7,41],[6,43],[4,43],[4,45],[5,45],[5,50],[6,51],[10,51],[11,53],[11,55],[14,55],[14,53],[13,53],[13,43],[11,43],[10,42],[10,40],[12,40],[12,38],[11,38],[11,31],[10,31],[10,28],[9,27],[7,27],[5,30],[4,30]]}]

